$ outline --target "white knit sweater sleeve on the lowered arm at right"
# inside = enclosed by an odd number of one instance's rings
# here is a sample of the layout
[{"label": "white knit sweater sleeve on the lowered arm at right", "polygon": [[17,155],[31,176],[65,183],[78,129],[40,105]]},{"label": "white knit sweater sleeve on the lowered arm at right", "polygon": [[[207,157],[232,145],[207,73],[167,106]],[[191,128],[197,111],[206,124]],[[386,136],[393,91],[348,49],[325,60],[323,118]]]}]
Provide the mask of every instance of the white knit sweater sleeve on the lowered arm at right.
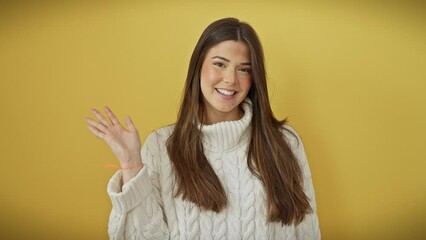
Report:
[{"label": "white knit sweater sleeve on the lowered arm at right", "polygon": [[303,219],[303,221],[300,224],[295,226],[296,239],[319,240],[321,239],[321,232],[320,232],[318,216],[317,216],[315,190],[314,190],[314,185],[312,182],[311,170],[309,168],[308,159],[305,153],[305,148],[297,132],[288,125],[286,125],[286,128],[289,129],[295,135],[293,137],[290,137],[290,139],[294,139],[294,141],[290,141],[290,142],[293,149],[293,153],[295,154],[296,158],[299,160],[300,167],[302,168],[303,190],[306,196],[308,197],[309,204],[311,205],[311,208],[312,208],[312,213],[307,214],[305,218]]}]

